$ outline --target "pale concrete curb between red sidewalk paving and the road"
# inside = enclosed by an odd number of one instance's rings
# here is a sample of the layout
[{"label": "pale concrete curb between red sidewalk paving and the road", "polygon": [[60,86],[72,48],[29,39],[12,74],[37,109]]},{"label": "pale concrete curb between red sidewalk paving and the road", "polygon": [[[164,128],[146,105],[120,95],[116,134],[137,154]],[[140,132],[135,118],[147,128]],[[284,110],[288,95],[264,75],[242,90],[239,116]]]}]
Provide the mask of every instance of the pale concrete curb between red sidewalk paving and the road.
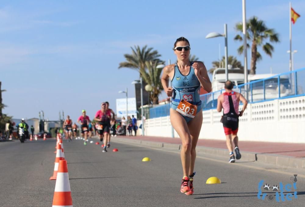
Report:
[{"label": "pale concrete curb between red sidewalk paving and the road", "polygon": [[[175,149],[180,150],[180,144],[173,143],[162,143],[162,142],[154,142],[154,141],[146,141],[146,140],[132,140],[128,138],[119,138],[112,137],[112,141],[121,142],[121,143],[134,143],[141,144],[150,147],[164,147],[167,149]],[[213,147],[203,147],[197,146],[197,152],[202,152],[204,154],[217,154],[217,156],[228,157],[228,150],[213,148]],[[267,154],[267,153],[255,153],[255,152],[244,152],[242,151],[242,158],[247,160],[254,160],[257,162],[274,164],[281,167],[291,167],[291,168],[305,168],[305,159],[303,158],[294,158],[289,156],[277,155],[277,154]]]}]

